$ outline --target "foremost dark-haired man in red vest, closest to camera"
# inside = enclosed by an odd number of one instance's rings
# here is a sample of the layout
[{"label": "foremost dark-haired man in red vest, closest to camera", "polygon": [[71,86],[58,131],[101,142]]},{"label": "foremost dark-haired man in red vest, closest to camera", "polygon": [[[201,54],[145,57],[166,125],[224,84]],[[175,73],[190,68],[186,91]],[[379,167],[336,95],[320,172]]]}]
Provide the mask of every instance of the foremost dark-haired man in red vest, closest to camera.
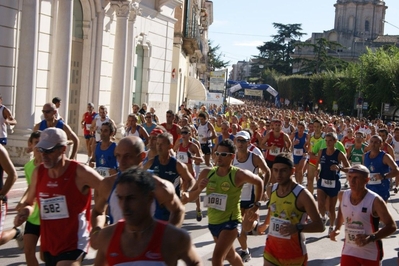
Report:
[{"label": "foremost dark-haired man in red vest, closest to camera", "polygon": [[202,265],[189,234],[151,215],[156,182],[142,169],[119,178],[116,193],[123,220],[104,228],[94,265]]}]

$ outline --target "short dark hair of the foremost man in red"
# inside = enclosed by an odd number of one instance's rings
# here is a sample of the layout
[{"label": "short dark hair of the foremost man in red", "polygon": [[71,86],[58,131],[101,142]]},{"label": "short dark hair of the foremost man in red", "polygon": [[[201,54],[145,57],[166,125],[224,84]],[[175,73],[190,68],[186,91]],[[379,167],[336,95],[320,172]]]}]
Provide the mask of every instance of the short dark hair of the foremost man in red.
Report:
[{"label": "short dark hair of the foremost man in red", "polygon": [[145,195],[155,190],[155,179],[152,174],[138,167],[132,167],[122,172],[118,185],[124,184],[135,184]]}]

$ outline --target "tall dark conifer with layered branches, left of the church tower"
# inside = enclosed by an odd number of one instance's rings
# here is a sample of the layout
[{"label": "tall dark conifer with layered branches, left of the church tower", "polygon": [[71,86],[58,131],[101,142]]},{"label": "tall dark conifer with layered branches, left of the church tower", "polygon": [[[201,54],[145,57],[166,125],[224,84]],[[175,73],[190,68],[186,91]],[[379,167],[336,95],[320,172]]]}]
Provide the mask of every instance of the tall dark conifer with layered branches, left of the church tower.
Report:
[{"label": "tall dark conifer with layered branches, left of the church tower", "polygon": [[291,75],[294,62],[291,54],[294,52],[295,43],[300,41],[305,33],[301,32],[301,24],[273,23],[273,27],[277,29],[277,34],[272,35],[272,41],[257,47],[258,64],[275,69],[279,73]]}]

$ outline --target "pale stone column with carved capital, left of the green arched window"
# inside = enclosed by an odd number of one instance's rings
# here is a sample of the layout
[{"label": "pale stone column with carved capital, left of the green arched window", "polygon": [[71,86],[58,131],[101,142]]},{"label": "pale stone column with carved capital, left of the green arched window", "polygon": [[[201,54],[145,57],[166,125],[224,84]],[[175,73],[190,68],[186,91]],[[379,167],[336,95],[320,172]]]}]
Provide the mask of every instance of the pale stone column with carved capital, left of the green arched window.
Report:
[{"label": "pale stone column with carved capital, left of the green arched window", "polygon": [[116,32],[114,44],[114,57],[112,62],[112,82],[111,82],[111,107],[110,117],[114,119],[118,137],[123,133],[125,124],[125,87],[126,87],[126,57],[128,40],[128,18],[132,7],[131,1],[111,1],[111,8],[116,17]]}]

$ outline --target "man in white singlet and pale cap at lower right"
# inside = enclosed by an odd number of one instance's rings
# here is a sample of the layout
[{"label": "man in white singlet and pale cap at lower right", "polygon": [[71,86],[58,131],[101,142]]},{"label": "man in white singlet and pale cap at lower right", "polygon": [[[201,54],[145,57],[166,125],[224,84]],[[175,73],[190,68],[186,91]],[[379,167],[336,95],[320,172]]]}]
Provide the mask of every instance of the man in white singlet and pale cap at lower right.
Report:
[{"label": "man in white singlet and pale cap at lower right", "polygon": [[[345,242],[341,265],[381,265],[383,250],[381,240],[396,231],[396,224],[384,200],[366,188],[370,171],[363,165],[354,165],[348,173],[350,189],[341,191],[337,225],[330,233],[336,241],[345,223]],[[381,219],[383,227],[378,229]],[[378,219],[378,220],[379,220]]]}]

